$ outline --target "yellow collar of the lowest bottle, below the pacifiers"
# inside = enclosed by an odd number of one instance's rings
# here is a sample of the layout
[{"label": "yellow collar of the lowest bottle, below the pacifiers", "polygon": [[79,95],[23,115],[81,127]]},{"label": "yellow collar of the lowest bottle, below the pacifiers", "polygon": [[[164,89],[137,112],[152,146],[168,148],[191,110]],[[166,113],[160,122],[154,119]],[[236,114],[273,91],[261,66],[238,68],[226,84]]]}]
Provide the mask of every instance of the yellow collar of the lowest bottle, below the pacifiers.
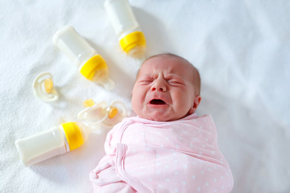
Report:
[{"label": "yellow collar of the lowest bottle, below the pacifiers", "polygon": [[81,136],[81,131],[76,122],[68,122],[61,125],[64,128],[64,133],[66,134],[66,139],[68,140],[68,145],[70,146],[70,151],[78,148],[84,143]]}]

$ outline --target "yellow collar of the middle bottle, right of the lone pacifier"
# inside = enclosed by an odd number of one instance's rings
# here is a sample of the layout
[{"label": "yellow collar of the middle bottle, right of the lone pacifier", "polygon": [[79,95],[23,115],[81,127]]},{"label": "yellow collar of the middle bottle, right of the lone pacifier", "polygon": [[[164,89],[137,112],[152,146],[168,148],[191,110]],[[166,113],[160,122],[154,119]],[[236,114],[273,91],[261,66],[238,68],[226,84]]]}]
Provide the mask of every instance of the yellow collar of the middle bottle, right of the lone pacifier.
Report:
[{"label": "yellow collar of the middle bottle, right of the lone pacifier", "polygon": [[80,72],[89,80],[92,80],[96,70],[99,69],[108,69],[106,61],[102,58],[101,55],[95,55],[90,58],[81,68]]}]

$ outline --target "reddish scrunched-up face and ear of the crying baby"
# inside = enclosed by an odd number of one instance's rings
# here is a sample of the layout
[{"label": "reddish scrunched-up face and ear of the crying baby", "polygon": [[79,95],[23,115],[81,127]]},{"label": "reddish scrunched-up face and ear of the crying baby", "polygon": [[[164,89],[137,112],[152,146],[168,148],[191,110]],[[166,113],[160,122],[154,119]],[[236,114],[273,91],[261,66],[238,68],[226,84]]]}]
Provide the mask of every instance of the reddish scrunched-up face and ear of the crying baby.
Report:
[{"label": "reddish scrunched-up face and ear of the crying baby", "polygon": [[182,58],[153,57],[139,70],[132,107],[141,118],[174,121],[194,113],[200,102],[196,92],[190,63]]}]

